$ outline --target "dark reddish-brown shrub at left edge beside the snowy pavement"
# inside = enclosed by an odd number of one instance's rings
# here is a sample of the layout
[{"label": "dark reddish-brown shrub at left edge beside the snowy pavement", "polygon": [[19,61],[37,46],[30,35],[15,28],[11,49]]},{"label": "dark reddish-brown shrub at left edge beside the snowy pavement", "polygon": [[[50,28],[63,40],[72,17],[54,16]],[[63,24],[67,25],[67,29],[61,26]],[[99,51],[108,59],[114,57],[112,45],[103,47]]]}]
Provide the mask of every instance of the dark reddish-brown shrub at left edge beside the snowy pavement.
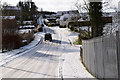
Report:
[{"label": "dark reddish-brown shrub at left edge beside the snowy pavement", "polygon": [[12,50],[22,46],[22,38],[18,34],[2,35],[2,49]]}]

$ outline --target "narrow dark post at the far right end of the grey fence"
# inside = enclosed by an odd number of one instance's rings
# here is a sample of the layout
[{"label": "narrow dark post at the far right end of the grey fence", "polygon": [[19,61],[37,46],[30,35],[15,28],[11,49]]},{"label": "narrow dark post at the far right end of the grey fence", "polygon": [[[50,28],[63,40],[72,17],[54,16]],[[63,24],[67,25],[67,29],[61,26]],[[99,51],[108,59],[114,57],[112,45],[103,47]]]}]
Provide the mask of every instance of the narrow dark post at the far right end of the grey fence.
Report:
[{"label": "narrow dark post at the far right end of the grey fence", "polygon": [[116,31],[116,49],[117,49],[117,67],[118,67],[118,80],[120,80],[120,41],[119,31]]}]

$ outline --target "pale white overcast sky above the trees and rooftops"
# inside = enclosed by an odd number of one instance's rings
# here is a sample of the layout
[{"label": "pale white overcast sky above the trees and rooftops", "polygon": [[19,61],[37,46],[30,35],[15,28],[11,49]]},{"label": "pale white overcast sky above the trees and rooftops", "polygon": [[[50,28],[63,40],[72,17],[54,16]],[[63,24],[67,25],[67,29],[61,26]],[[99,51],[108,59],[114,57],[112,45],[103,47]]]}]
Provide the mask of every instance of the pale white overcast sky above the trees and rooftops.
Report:
[{"label": "pale white overcast sky above the trees and rooftops", "polygon": [[[2,0],[3,2],[7,2],[11,5],[16,5],[20,0]],[[24,0],[21,0],[24,1]],[[32,0],[35,2],[39,10],[43,8],[44,11],[65,11],[65,10],[71,10],[76,9],[75,8],[75,2],[77,0]],[[120,0],[112,0],[111,5],[112,6],[118,6],[118,1]]]}]

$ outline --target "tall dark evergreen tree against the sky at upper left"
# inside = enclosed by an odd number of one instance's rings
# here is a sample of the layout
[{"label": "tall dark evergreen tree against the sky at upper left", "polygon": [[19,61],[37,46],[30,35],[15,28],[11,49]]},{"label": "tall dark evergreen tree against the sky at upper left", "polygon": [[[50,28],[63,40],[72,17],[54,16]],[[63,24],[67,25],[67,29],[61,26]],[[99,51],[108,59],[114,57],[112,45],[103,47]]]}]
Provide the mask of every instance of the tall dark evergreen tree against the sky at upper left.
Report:
[{"label": "tall dark evergreen tree against the sky at upper left", "polygon": [[34,19],[34,15],[38,12],[37,11],[37,6],[35,5],[34,2],[32,2],[32,0],[28,0],[26,2],[19,2],[18,7],[21,7],[21,17],[20,17],[20,21],[21,24],[23,23],[23,21],[25,20],[33,20]]}]

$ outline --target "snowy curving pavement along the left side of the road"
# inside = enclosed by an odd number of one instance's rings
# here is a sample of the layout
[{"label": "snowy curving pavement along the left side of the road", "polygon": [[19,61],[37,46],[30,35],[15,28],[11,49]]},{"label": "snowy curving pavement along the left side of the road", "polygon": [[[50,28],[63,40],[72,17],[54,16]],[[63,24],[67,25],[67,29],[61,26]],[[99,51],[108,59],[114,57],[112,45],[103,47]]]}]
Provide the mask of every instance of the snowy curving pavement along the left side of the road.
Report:
[{"label": "snowy curving pavement along the left side of the road", "polygon": [[34,48],[37,44],[42,42],[44,33],[36,33],[34,35],[35,35],[35,39],[30,44],[23,46],[19,49],[15,49],[5,53],[0,53],[0,58],[1,58],[0,65],[6,64],[9,61],[25,54],[27,51],[29,51],[29,49]]}]

